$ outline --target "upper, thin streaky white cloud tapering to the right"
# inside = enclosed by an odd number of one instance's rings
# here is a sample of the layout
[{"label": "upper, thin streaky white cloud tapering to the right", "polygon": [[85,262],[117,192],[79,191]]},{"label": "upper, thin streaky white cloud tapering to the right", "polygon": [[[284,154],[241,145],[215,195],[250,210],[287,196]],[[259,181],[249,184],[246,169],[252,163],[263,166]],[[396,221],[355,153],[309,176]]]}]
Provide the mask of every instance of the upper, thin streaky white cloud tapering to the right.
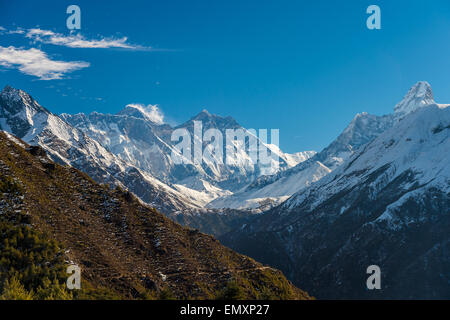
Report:
[{"label": "upper, thin streaky white cloud tapering to the right", "polygon": [[122,48],[133,50],[151,50],[138,45],[127,43],[128,38],[101,38],[98,40],[86,39],[81,34],[64,35],[50,30],[29,29],[25,35],[36,42],[65,46],[69,48]]}]

